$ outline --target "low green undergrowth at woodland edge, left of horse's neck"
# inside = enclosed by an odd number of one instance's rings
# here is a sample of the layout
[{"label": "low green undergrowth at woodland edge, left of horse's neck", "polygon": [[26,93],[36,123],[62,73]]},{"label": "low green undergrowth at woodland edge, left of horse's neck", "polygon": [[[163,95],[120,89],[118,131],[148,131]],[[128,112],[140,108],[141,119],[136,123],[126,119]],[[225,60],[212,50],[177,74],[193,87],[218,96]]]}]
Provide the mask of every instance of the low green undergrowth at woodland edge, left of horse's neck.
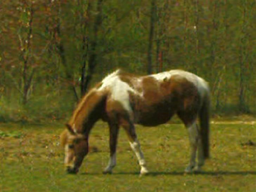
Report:
[{"label": "low green undergrowth at woodland edge, left of horse's neck", "polygon": [[[45,95],[34,95],[26,105],[22,104],[19,94],[14,92],[9,98],[1,98],[0,121],[1,122],[55,122],[64,120],[70,116],[75,107],[75,98],[71,97],[70,91],[48,91],[51,86],[47,86]],[[41,92],[41,93],[42,93]],[[62,95],[62,97],[60,97]],[[69,101],[69,102],[66,102]]]}]

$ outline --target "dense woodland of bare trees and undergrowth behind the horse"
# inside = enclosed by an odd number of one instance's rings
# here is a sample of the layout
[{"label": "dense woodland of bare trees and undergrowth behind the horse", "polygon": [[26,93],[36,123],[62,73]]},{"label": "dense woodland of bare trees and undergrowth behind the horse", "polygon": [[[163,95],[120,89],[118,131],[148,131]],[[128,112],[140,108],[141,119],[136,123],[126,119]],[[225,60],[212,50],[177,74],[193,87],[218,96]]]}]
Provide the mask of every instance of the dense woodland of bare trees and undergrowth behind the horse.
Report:
[{"label": "dense woodland of bare trees and undergrowth behind the horse", "polygon": [[0,122],[57,121],[122,68],[206,79],[213,115],[256,114],[255,0],[1,0]]}]

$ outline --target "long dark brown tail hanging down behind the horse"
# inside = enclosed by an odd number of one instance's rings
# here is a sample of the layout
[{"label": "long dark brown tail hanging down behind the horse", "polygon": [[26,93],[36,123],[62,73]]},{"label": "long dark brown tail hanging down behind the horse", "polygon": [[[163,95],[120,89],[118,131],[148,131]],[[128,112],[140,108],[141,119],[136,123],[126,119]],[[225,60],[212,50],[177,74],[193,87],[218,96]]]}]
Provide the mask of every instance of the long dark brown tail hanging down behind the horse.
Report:
[{"label": "long dark brown tail hanging down behind the horse", "polygon": [[203,102],[201,105],[201,109],[199,111],[199,119],[200,119],[200,135],[203,144],[203,152],[204,158],[210,157],[209,150],[209,132],[210,132],[210,91],[207,89],[203,96]]}]

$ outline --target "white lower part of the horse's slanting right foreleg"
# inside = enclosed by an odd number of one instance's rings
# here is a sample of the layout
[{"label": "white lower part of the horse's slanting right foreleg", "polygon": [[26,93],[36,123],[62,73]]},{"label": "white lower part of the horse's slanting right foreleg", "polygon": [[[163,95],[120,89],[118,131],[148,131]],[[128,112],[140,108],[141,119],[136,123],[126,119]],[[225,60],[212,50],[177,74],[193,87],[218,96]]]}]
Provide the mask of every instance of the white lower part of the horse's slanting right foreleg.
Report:
[{"label": "white lower part of the horse's slanting right foreleg", "polygon": [[148,169],[146,167],[146,161],[144,159],[144,155],[140,149],[140,142],[136,139],[134,142],[130,142],[130,146],[132,147],[133,151],[135,152],[135,155],[139,161],[141,170],[140,170],[140,174],[147,174],[148,173]]}]

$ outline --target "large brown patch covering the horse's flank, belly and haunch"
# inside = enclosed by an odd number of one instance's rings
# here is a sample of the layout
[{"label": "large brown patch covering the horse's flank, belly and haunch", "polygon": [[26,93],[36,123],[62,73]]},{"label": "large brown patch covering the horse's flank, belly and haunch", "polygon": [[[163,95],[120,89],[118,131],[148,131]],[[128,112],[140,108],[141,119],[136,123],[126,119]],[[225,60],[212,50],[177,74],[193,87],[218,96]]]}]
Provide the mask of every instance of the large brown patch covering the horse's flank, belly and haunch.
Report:
[{"label": "large brown patch covering the horse's flank, belly and haunch", "polygon": [[[166,123],[178,113],[185,124],[194,117],[190,114],[199,109],[197,87],[186,78],[173,75],[170,79],[157,81],[147,76],[142,80],[143,97],[129,92],[135,122],[144,126]],[[195,102],[196,101],[196,102]],[[196,103],[196,104],[195,104]]]}]

